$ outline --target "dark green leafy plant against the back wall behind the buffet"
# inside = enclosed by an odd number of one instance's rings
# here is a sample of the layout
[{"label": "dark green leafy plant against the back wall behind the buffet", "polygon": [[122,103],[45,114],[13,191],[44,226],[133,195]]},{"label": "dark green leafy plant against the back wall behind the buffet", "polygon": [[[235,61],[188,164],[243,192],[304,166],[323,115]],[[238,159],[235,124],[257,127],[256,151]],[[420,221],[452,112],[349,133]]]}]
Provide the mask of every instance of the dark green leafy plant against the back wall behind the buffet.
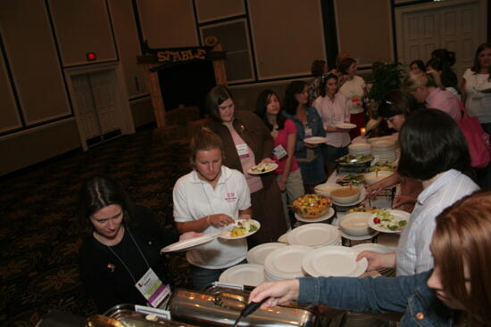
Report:
[{"label": "dark green leafy plant against the back wall behind the buffet", "polygon": [[404,69],[399,62],[374,62],[371,66],[372,86],[368,93],[370,100],[377,104],[387,91],[401,87]]}]

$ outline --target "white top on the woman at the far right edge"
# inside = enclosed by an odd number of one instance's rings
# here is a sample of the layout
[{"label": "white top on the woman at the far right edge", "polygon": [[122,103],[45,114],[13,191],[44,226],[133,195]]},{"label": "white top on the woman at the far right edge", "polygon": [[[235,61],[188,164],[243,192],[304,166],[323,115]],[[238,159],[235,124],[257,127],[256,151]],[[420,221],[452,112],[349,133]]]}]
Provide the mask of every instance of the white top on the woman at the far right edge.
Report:
[{"label": "white top on the woman at the far right edge", "polygon": [[491,88],[491,82],[487,80],[489,74],[476,74],[467,69],[463,73],[463,78],[467,93],[465,107],[469,110],[469,115],[477,117],[481,124],[491,123],[491,93],[481,92]]}]

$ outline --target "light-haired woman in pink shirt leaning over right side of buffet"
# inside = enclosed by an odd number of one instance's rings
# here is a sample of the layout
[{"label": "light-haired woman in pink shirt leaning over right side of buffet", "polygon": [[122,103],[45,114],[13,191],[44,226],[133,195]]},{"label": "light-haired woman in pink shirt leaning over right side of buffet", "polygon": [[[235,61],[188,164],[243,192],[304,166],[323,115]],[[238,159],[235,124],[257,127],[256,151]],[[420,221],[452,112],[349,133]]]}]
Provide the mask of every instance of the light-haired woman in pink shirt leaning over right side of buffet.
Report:
[{"label": "light-haired woman in pink shirt leaning over right side of buffet", "polygon": [[439,83],[437,72],[410,72],[404,78],[404,90],[412,94],[420,103],[426,103],[427,108],[445,111],[455,121],[461,119],[461,104],[452,92],[444,91]]}]

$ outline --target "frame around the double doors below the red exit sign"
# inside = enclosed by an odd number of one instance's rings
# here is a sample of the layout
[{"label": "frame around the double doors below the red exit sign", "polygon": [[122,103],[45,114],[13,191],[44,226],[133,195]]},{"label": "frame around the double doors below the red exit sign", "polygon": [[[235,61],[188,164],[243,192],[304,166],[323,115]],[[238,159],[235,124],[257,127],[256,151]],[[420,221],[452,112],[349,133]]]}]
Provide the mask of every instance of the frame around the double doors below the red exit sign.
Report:
[{"label": "frame around the double doors below the red exit sign", "polygon": [[71,99],[71,104],[73,106],[73,113],[75,115],[75,120],[77,122],[77,127],[79,128],[80,143],[84,151],[88,150],[86,135],[84,135],[83,128],[80,122],[80,111],[75,96],[75,90],[73,88],[71,78],[77,75],[90,74],[103,70],[112,70],[115,76],[115,90],[116,95],[116,105],[118,106],[118,116],[121,121],[121,135],[133,134],[135,133],[135,124],[133,122],[133,116],[131,114],[131,109],[129,107],[129,96],[124,83],[124,76],[122,73],[120,62],[104,62],[96,63],[91,65],[84,65],[78,67],[71,67],[64,69],[64,74],[69,90],[69,96]]}]

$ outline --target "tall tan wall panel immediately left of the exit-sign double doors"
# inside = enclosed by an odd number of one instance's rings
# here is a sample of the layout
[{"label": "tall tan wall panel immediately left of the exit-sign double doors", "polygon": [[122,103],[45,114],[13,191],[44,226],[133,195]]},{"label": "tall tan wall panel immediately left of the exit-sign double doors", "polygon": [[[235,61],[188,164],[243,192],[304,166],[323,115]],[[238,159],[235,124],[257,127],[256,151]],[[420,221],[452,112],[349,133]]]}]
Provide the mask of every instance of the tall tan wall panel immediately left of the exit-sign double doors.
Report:
[{"label": "tall tan wall panel immediately left of the exit-sign double doors", "polygon": [[44,2],[3,2],[0,27],[26,123],[70,114]]}]

